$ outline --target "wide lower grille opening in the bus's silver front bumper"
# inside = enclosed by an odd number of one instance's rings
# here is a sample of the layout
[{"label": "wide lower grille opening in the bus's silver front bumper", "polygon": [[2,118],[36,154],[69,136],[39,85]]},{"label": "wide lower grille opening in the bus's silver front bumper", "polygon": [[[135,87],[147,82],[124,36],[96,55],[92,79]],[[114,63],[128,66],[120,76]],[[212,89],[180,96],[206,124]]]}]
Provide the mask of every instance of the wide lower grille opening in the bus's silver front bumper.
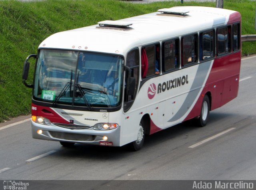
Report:
[{"label": "wide lower grille opening in the bus's silver front bumper", "polygon": [[85,135],[78,133],[64,133],[57,131],[49,131],[50,135],[56,139],[70,140],[70,141],[94,141],[95,135]]}]

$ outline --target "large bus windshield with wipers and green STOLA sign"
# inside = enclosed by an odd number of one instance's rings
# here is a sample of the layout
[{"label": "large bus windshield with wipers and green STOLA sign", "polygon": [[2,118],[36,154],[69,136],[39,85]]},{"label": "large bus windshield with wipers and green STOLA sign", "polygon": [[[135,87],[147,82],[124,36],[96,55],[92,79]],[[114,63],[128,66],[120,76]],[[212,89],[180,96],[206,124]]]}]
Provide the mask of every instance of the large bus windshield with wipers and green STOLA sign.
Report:
[{"label": "large bus windshield with wipers and green STOLA sign", "polygon": [[33,97],[53,105],[116,107],[121,100],[122,62],[117,55],[41,49]]}]

